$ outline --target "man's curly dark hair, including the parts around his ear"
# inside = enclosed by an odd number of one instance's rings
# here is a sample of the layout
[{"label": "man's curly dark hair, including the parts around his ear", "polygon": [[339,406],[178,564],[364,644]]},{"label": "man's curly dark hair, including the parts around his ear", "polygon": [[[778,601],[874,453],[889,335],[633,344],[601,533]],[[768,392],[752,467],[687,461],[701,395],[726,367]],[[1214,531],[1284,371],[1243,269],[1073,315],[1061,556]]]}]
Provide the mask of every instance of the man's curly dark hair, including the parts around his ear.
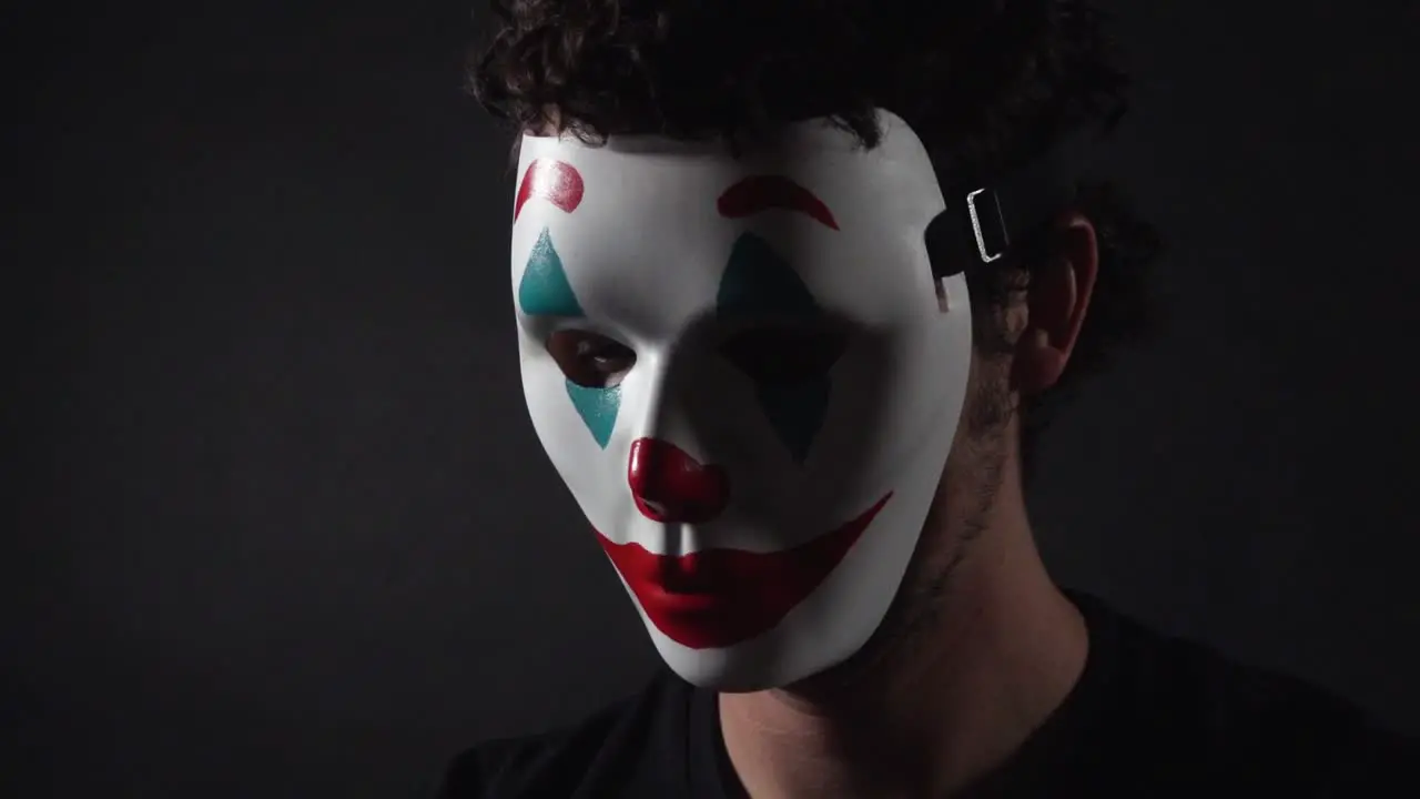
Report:
[{"label": "man's curly dark hair, including the parts around his ear", "polygon": [[[902,117],[954,181],[985,182],[1116,109],[1129,85],[1105,16],[1085,0],[491,0],[474,97],[515,132],[588,142],[659,134],[753,142],[826,117],[863,146],[875,109]],[[1078,186],[1099,276],[1071,365],[1024,398],[1021,461],[1058,398],[1142,338],[1159,236],[1108,182]],[[973,304],[1000,307],[1041,263],[1045,230],[1000,269],[968,273]],[[1032,246],[1034,245],[1034,246]],[[1010,347],[1000,314],[974,314],[977,348]]]}]

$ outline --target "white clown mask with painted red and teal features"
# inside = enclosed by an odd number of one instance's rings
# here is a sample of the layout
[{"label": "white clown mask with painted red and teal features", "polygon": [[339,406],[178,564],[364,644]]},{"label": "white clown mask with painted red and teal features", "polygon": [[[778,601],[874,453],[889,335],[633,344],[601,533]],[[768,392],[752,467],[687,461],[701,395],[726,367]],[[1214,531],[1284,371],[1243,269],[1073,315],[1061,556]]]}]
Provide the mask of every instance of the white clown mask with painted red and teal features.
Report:
[{"label": "white clown mask with painted red and teal features", "polygon": [[872,149],[816,119],[740,158],[523,139],[513,293],[532,425],[657,651],[697,685],[781,687],[862,647],[951,446],[966,279],[933,279],[941,191],[912,129],[879,121]]}]

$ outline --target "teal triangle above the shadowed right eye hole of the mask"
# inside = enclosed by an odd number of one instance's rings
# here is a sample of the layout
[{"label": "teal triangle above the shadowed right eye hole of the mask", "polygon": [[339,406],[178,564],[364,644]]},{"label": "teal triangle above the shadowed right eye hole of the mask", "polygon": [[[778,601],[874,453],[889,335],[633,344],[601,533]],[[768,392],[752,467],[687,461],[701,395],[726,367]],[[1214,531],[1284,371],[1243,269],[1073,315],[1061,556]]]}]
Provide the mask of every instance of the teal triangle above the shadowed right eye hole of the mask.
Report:
[{"label": "teal triangle above the shadowed right eye hole of the mask", "polygon": [[724,317],[815,317],[819,307],[808,286],[764,239],[744,233],[730,250],[720,277],[716,313]]}]

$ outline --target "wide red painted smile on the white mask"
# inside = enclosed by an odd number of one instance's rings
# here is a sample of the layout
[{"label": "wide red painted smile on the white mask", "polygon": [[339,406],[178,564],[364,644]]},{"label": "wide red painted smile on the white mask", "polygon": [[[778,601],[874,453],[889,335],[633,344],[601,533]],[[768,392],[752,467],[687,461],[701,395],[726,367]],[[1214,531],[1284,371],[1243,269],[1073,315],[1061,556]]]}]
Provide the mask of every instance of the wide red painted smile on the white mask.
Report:
[{"label": "wide red painted smile on the white mask", "polygon": [[657,630],[693,650],[720,648],[778,624],[838,566],[890,498],[782,552],[706,549],[676,557],[619,545],[601,532],[596,537]]}]

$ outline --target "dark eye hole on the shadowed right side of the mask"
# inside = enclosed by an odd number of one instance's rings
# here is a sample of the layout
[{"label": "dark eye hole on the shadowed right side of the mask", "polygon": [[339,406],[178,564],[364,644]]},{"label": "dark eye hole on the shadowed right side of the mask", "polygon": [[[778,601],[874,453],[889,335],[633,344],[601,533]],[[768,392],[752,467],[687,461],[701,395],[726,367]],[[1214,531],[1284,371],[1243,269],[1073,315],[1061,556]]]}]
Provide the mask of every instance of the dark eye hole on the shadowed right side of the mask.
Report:
[{"label": "dark eye hole on the shadowed right side of the mask", "polygon": [[720,354],[755,382],[802,382],[826,374],[845,347],[828,326],[772,324],[730,336]]}]

